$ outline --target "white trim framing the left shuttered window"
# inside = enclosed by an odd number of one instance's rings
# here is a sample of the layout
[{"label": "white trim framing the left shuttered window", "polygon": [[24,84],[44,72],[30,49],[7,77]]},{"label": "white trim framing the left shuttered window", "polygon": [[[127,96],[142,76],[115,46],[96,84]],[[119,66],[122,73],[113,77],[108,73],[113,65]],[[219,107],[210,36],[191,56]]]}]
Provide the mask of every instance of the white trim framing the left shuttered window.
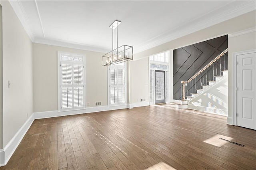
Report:
[{"label": "white trim framing the left shuttered window", "polygon": [[63,112],[63,111],[75,111],[75,110],[82,110],[81,108],[79,109],[61,109],[61,67],[60,64],[61,62],[64,63],[81,63],[78,61],[66,61],[66,60],[62,60],[61,56],[62,55],[72,55],[74,57],[82,57],[82,62],[83,62],[83,66],[84,66],[84,79],[83,79],[83,83],[84,83],[84,107],[82,109],[86,109],[86,55],[83,54],[78,54],[78,53],[70,53],[70,52],[64,52],[64,51],[58,51],[58,112]]}]

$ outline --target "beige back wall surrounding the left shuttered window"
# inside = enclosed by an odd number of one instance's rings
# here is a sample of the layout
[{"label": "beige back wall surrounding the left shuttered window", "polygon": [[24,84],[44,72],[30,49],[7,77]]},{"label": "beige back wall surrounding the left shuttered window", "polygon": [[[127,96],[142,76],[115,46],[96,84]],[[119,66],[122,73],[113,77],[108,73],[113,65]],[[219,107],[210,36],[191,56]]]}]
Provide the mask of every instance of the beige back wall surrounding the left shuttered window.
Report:
[{"label": "beige back wall surrounding the left shuttered window", "polygon": [[104,53],[33,43],[34,112],[58,110],[58,51],[86,56],[86,103],[108,101],[107,67],[101,65]]}]

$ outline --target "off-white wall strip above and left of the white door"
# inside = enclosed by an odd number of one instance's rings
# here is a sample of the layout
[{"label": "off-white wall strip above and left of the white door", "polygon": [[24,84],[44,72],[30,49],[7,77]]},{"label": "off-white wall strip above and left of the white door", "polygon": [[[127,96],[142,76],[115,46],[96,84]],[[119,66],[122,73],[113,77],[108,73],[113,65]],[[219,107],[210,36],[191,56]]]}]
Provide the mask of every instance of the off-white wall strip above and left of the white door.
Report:
[{"label": "off-white wall strip above and left of the white door", "polygon": [[256,49],[256,32],[228,38],[228,124],[232,125],[234,69],[233,53]]}]

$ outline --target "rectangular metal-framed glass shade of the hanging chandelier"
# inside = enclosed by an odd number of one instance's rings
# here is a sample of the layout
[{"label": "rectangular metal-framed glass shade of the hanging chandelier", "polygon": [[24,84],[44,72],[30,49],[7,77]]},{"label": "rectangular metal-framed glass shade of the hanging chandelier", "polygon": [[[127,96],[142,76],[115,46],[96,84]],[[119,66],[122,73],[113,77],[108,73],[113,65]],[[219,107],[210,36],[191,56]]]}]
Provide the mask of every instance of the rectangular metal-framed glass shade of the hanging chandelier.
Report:
[{"label": "rectangular metal-framed glass shade of the hanging chandelier", "polygon": [[102,55],[102,65],[110,66],[133,59],[133,47],[122,45],[109,53]]}]

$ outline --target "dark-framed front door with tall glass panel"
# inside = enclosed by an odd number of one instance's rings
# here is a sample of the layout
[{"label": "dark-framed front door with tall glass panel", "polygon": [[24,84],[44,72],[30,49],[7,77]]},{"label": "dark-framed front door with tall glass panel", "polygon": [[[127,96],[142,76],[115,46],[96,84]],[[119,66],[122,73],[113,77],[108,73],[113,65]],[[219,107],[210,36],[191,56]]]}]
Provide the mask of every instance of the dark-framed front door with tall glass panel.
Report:
[{"label": "dark-framed front door with tall glass panel", "polygon": [[165,103],[165,71],[155,71],[155,104]]}]

